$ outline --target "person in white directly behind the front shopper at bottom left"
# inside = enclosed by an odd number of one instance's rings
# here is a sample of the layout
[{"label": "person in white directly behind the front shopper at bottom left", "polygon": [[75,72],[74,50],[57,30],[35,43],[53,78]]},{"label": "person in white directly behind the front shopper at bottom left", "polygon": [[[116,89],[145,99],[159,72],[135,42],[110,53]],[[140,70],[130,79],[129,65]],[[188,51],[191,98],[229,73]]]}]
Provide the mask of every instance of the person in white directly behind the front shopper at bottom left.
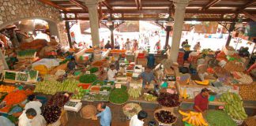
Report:
[{"label": "person in white directly behind the front shopper at bottom left", "polygon": [[40,101],[37,101],[36,100],[36,96],[35,95],[29,95],[28,96],[28,103],[24,106],[24,110],[27,110],[27,109],[35,109],[36,110],[36,113],[38,115],[40,115],[42,112],[41,112],[41,107],[42,107],[42,103]]}]

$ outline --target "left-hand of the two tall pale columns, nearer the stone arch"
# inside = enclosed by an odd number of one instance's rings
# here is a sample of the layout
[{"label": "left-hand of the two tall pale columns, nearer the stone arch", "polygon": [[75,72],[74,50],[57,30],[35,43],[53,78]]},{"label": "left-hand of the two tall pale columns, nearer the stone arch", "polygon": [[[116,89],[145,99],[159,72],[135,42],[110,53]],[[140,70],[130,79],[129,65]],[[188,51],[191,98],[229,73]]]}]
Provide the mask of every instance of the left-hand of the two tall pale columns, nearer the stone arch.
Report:
[{"label": "left-hand of the two tall pale columns, nearer the stone arch", "polygon": [[92,45],[100,45],[98,4],[100,0],[85,0],[91,27]]}]

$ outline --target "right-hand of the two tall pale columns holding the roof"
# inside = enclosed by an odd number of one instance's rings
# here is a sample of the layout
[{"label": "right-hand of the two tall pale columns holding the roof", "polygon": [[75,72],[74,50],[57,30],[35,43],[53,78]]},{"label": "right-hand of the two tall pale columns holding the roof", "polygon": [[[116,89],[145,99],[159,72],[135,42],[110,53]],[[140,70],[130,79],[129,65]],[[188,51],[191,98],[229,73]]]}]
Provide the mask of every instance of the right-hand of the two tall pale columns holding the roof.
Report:
[{"label": "right-hand of the two tall pale columns holding the roof", "polygon": [[183,31],[183,21],[185,17],[186,6],[190,0],[174,0],[175,19],[173,25],[173,35],[171,43],[171,61],[176,62],[179,54],[179,44]]}]

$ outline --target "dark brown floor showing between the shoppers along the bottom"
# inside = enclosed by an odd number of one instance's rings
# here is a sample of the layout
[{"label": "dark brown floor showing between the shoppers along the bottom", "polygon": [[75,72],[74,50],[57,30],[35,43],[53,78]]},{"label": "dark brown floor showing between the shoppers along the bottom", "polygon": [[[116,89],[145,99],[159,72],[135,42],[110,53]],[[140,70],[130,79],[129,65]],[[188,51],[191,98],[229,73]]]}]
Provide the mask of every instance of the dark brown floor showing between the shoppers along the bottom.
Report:
[{"label": "dark brown floor showing between the shoppers along the bottom", "polygon": [[[93,105],[96,105],[95,102],[92,103]],[[154,104],[140,104],[142,109],[144,109],[148,114],[149,117],[147,118],[145,122],[145,126],[147,126],[149,120],[154,120],[153,113],[157,109],[157,105]],[[122,113],[122,106],[116,106],[109,104],[108,105],[111,108],[112,113],[112,126],[129,126],[129,120],[126,120],[126,116]],[[67,126],[100,126],[100,120],[85,120],[79,116],[79,114],[75,113],[68,113],[69,115],[69,121]],[[176,113],[177,115],[177,113]],[[176,124],[173,124],[172,126],[182,126],[181,120],[178,120]]]}]

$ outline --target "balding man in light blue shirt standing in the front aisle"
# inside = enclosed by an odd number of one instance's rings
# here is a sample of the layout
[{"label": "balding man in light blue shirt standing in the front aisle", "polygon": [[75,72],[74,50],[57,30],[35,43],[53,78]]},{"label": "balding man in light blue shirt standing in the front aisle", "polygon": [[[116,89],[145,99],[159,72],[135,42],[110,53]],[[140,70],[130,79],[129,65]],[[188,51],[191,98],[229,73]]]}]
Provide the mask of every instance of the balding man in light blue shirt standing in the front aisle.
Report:
[{"label": "balding man in light blue shirt standing in the front aisle", "polygon": [[111,126],[111,109],[107,106],[107,103],[99,103],[97,109],[100,111],[100,113],[96,115],[96,117],[100,117],[100,125]]}]

